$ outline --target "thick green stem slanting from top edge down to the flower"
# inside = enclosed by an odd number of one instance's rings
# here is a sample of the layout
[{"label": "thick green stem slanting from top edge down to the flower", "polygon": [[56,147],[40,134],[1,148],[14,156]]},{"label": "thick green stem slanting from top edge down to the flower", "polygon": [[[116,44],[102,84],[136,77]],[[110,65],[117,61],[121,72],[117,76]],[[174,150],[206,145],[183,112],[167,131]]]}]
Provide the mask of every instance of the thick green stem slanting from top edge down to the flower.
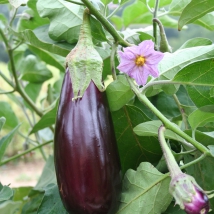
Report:
[{"label": "thick green stem slanting from top edge down to the flower", "polygon": [[131,46],[131,44],[120,36],[120,34],[115,30],[115,27],[93,6],[89,0],[82,0],[82,2],[88,7],[90,13],[93,14],[113,36],[115,42],[118,42],[118,44],[124,47]]}]

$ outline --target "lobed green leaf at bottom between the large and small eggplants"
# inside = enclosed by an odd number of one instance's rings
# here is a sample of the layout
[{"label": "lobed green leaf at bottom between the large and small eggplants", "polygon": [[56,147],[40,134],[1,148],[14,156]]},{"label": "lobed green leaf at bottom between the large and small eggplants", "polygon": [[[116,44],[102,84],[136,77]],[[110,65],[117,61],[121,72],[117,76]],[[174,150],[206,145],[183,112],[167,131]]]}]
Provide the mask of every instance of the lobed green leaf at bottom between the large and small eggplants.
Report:
[{"label": "lobed green leaf at bottom between the large and small eggplants", "polygon": [[141,163],[137,171],[129,169],[124,177],[121,206],[117,214],[161,214],[169,206],[170,178],[150,163]]}]

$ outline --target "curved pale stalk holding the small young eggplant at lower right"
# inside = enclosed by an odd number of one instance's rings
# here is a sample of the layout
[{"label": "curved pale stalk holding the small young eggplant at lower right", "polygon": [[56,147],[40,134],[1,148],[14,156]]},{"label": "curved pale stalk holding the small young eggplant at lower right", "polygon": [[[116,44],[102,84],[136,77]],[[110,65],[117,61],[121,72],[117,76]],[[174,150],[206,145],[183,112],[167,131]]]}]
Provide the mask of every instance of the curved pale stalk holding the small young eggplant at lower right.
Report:
[{"label": "curved pale stalk holding the small young eggplant at lower right", "polygon": [[161,125],[160,128],[158,129],[158,139],[159,139],[170,175],[171,175],[171,177],[176,177],[177,175],[179,175],[182,172],[181,172],[169,146],[166,143],[166,140],[164,137],[165,130],[166,130],[165,127],[163,125]]}]

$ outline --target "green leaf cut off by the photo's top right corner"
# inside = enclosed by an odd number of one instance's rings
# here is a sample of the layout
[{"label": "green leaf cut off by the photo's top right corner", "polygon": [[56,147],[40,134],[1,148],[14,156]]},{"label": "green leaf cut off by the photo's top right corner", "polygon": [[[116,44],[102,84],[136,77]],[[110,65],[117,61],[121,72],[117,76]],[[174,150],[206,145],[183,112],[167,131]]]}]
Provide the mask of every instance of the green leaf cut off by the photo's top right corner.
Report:
[{"label": "green leaf cut off by the photo's top right corner", "polygon": [[178,29],[181,30],[185,24],[189,24],[214,11],[213,0],[192,0],[182,11],[178,21]]}]

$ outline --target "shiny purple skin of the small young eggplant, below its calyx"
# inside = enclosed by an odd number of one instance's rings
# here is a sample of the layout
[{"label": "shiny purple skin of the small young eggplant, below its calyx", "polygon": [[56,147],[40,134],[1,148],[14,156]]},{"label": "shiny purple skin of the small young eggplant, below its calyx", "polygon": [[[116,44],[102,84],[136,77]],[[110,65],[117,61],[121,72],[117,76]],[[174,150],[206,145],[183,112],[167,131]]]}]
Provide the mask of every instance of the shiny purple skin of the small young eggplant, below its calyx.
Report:
[{"label": "shiny purple skin of the small young eggplant, below its calyx", "polygon": [[196,194],[191,203],[184,203],[187,214],[206,214],[209,212],[209,200],[206,194],[195,186]]}]

